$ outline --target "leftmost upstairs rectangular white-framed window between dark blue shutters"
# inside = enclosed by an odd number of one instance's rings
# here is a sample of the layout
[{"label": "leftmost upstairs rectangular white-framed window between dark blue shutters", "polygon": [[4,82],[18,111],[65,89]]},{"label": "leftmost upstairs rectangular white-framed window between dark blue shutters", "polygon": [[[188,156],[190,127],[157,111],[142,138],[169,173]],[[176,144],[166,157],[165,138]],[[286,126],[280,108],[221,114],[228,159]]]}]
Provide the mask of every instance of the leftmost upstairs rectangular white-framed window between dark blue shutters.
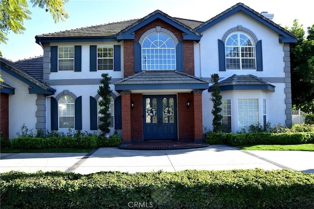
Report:
[{"label": "leftmost upstairs rectangular white-framed window between dark blue shutters", "polygon": [[74,70],[74,46],[58,47],[58,70]]}]

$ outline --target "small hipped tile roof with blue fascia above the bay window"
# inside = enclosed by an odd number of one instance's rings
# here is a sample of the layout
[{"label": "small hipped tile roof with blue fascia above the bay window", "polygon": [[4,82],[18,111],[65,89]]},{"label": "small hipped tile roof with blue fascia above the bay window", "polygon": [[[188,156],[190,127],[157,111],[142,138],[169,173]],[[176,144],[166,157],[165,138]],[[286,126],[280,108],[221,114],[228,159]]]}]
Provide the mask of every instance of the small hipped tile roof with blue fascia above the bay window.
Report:
[{"label": "small hipped tile roof with blue fascia above the bay window", "polygon": [[[229,90],[268,90],[275,92],[275,86],[268,81],[255,75],[232,75],[218,82],[220,91]],[[209,92],[212,92],[212,85],[209,86]]]}]

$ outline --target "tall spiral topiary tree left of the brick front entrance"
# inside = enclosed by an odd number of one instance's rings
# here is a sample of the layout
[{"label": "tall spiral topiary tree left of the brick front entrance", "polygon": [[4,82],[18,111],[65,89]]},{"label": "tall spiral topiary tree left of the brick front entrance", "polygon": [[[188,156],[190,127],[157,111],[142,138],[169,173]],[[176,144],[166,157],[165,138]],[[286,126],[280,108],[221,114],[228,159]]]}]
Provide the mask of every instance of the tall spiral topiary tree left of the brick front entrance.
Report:
[{"label": "tall spiral topiary tree left of the brick front entrance", "polygon": [[109,77],[108,73],[102,74],[102,79],[100,80],[100,83],[102,83],[102,86],[99,86],[99,90],[97,93],[101,96],[102,99],[99,100],[99,105],[101,106],[101,109],[99,110],[99,113],[102,115],[100,117],[101,124],[98,125],[98,128],[102,131],[102,134],[105,135],[108,133],[109,126],[110,126],[110,113],[109,113],[109,107],[110,107],[110,95],[112,93],[112,90],[109,87],[111,77]]}]

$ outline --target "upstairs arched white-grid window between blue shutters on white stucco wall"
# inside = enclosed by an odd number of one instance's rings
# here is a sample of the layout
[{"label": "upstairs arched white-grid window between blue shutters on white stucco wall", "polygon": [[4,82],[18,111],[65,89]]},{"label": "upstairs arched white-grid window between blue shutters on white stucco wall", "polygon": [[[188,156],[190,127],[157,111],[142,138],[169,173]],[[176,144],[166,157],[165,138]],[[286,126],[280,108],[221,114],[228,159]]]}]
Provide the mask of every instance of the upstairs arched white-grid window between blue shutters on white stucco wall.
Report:
[{"label": "upstairs arched white-grid window between blue shutters on white stucco wall", "polygon": [[255,43],[248,34],[231,33],[225,44],[227,70],[256,70]]}]

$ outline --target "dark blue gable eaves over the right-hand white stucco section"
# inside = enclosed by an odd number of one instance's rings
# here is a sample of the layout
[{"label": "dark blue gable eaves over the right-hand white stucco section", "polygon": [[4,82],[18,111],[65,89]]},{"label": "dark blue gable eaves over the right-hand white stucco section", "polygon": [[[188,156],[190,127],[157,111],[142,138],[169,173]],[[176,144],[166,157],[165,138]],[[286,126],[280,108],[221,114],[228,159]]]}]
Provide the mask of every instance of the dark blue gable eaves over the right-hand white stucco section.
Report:
[{"label": "dark blue gable eaves over the right-hand white stucco section", "polygon": [[251,9],[250,7],[246,6],[243,3],[237,3],[234,6],[230,7],[229,9],[223,11],[222,13],[216,15],[215,17],[211,18],[210,20],[206,21],[205,23],[199,25],[195,28],[198,33],[202,33],[203,31],[207,30],[211,26],[229,18],[230,16],[234,15],[236,12],[243,12],[250,16],[251,18],[255,19],[256,21],[264,24],[268,28],[274,30],[279,34],[279,42],[280,43],[296,43],[297,38],[290,33],[285,28],[281,27],[280,25],[272,22],[268,18],[264,17],[262,14],[256,12],[255,10]]}]

